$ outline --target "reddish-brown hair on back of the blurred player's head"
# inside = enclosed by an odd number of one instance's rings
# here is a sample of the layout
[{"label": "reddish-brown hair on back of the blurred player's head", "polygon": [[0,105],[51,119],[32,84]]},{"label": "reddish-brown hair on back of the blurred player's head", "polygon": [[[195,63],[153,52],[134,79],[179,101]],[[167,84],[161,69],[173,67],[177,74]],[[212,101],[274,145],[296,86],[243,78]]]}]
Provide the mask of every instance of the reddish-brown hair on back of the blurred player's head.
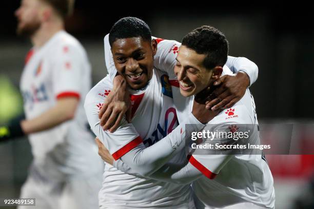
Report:
[{"label": "reddish-brown hair on back of the blurred player's head", "polygon": [[41,0],[51,5],[55,11],[64,19],[71,16],[75,0]]}]

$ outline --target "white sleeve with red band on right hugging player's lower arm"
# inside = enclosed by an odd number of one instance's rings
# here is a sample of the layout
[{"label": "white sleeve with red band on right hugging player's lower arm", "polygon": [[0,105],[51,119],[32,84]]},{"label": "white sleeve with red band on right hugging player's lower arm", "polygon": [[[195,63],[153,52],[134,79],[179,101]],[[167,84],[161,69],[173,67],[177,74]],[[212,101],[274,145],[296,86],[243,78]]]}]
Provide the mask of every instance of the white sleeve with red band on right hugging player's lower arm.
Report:
[{"label": "white sleeve with red band on right hugging player's lower arm", "polygon": [[[240,102],[238,105],[233,106],[231,111],[233,111],[234,115],[232,116],[234,117],[226,117],[225,115],[227,114],[225,112],[227,112],[227,110],[225,110],[219,116],[217,116],[217,118],[215,118],[215,122],[217,124],[207,124],[202,131],[206,132],[208,130],[212,132],[224,132],[228,134],[231,132],[248,132],[248,139],[246,142],[257,143],[257,127],[252,124],[251,117],[246,113],[246,107]],[[241,144],[242,142],[238,140],[239,138],[235,137],[235,135],[233,135],[233,137],[226,137],[226,135],[216,135],[215,137],[205,138],[202,140],[200,145],[212,144],[213,149],[194,149],[192,154],[187,157],[186,163],[166,163],[159,170],[156,170],[156,172],[152,173],[148,177],[156,180],[180,184],[190,183],[202,176],[205,176],[209,179],[214,179],[235,155],[252,154],[245,153],[248,151],[246,149],[241,150],[215,148],[215,144]],[[126,173],[133,175],[139,174],[139,172],[132,170],[132,168],[121,161],[115,161],[114,166],[115,168]]]}]

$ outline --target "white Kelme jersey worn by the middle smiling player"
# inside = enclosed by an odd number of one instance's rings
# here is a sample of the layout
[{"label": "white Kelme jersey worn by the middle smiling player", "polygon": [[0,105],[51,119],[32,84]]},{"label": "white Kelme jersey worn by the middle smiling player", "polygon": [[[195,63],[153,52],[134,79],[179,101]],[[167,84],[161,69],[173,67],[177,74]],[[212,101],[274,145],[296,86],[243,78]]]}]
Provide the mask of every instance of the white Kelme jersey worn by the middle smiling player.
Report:
[{"label": "white Kelme jersey worn by the middle smiling player", "polygon": [[[107,76],[88,93],[85,110],[93,132],[102,140],[114,159],[121,158],[142,142],[145,147],[155,144],[178,126],[168,76],[154,69],[145,90],[130,90],[132,123],[124,118],[115,132],[103,131],[98,113],[111,89],[112,83]],[[182,163],[185,155],[185,152],[180,152],[171,162]],[[109,164],[105,166],[103,177],[103,187],[99,194],[101,208],[190,207],[189,185],[136,177]]]}]

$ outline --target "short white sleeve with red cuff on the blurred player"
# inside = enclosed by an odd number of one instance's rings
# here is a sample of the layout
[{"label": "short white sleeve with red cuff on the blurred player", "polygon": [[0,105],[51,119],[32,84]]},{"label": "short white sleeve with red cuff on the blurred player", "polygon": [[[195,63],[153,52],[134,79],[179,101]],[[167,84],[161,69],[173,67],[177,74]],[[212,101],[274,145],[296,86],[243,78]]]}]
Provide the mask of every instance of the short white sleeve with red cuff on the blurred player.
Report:
[{"label": "short white sleeve with red cuff on the blurred player", "polygon": [[52,63],[52,88],[56,98],[73,96],[81,97],[82,75],[89,69],[84,64],[84,53],[72,44],[61,45],[54,56]]}]

